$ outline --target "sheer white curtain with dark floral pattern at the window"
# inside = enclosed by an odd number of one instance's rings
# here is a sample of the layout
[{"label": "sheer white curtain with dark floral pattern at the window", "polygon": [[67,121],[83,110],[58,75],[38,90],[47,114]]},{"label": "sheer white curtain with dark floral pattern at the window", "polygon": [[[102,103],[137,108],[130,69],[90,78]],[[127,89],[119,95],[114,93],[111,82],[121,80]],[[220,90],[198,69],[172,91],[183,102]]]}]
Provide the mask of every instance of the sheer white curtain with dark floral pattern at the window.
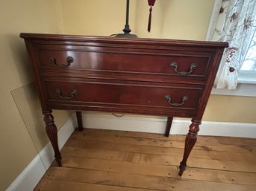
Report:
[{"label": "sheer white curtain with dark floral pattern at the window", "polygon": [[[218,4],[216,4],[218,5]],[[222,0],[219,13],[213,18],[210,40],[228,42],[215,88],[235,89],[239,70],[256,29],[256,0]]]}]

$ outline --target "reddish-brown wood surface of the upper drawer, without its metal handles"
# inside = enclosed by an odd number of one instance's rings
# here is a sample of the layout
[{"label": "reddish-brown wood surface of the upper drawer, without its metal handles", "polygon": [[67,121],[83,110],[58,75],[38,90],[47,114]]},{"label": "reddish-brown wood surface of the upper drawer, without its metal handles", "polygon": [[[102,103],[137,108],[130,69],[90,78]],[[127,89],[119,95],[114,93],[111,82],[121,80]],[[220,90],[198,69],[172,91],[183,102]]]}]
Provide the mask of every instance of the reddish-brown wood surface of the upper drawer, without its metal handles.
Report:
[{"label": "reddish-brown wood surface of the upper drawer, without its metal handles", "polygon": [[[39,58],[42,62],[42,73],[51,70],[57,70],[56,65],[49,57],[56,60],[57,65],[67,65],[66,59],[73,58],[69,68],[80,71],[104,71],[104,72],[126,72],[134,74],[136,72],[155,75],[167,75],[178,77],[178,74],[170,67],[172,62],[177,62],[178,68],[181,71],[189,71],[190,65],[196,62],[197,70],[190,75],[190,77],[205,77],[207,71],[207,63],[210,60],[210,54],[205,52],[198,52],[195,54],[190,51],[175,52],[175,54],[168,55],[173,51],[166,51],[165,54],[154,52],[152,54],[143,54],[140,49],[134,50],[127,54],[125,50],[110,49],[110,48],[95,48],[96,52],[90,52],[90,48],[72,48],[72,51],[59,50],[51,51],[56,46],[40,45],[37,47]],[[57,46],[59,48],[59,46]],[[83,51],[83,52],[82,52]],[[184,56],[186,55],[186,56]],[[122,59],[125,56],[125,60]],[[87,62],[84,62],[86,60]],[[193,60],[193,62],[192,62]],[[122,65],[119,63],[122,62]],[[95,64],[97,63],[97,68]],[[157,63],[157,65],[155,64]],[[181,64],[182,63],[182,64]],[[63,71],[69,72],[69,71]]]}]

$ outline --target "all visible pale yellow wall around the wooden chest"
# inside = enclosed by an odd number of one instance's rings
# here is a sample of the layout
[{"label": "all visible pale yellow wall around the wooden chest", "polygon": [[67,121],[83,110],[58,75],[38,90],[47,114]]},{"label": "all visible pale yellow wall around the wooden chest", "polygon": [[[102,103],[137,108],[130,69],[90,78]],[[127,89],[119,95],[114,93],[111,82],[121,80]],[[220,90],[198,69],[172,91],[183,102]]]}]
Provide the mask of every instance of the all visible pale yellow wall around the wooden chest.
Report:
[{"label": "all visible pale yellow wall around the wooden chest", "polygon": [[[131,0],[131,30],[147,38],[203,40],[212,6],[213,0],[158,0],[147,33],[147,1]],[[0,13],[0,190],[5,190],[48,141],[19,33],[122,33],[125,0],[1,0]],[[255,104],[255,97],[214,95],[205,120],[256,123]],[[61,126],[69,113],[55,112]]]}]

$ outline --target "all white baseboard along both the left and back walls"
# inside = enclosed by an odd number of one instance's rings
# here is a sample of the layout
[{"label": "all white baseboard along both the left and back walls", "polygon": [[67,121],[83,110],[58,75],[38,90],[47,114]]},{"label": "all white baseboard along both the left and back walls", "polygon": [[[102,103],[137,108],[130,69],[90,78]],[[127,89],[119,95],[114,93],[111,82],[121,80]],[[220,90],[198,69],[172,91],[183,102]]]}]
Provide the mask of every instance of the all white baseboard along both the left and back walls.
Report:
[{"label": "all white baseboard along both the left and back walls", "polygon": [[[134,117],[125,115],[114,117],[110,114],[83,114],[84,127],[92,129],[112,129],[131,132],[164,133],[166,117]],[[171,135],[186,135],[190,120],[177,120],[172,122]],[[60,149],[75,129],[75,114],[66,121],[58,131]],[[203,121],[199,135],[249,137],[256,138],[256,124],[252,123],[223,123]],[[54,152],[51,143],[48,143],[33,161],[23,170],[15,181],[7,188],[7,191],[33,190],[46,170],[54,160]]]}]

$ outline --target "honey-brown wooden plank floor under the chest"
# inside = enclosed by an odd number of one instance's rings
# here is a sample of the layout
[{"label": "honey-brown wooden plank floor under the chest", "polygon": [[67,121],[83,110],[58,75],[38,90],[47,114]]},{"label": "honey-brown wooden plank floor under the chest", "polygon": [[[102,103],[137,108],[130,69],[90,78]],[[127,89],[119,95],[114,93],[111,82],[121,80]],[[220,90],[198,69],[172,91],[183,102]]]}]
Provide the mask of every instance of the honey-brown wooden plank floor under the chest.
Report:
[{"label": "honey-brown wooden plank floor under the chest", "polygon": [[180,178],[185,136],[84,129],[35,191],[256,190],[256,139],[198,137]]}]

